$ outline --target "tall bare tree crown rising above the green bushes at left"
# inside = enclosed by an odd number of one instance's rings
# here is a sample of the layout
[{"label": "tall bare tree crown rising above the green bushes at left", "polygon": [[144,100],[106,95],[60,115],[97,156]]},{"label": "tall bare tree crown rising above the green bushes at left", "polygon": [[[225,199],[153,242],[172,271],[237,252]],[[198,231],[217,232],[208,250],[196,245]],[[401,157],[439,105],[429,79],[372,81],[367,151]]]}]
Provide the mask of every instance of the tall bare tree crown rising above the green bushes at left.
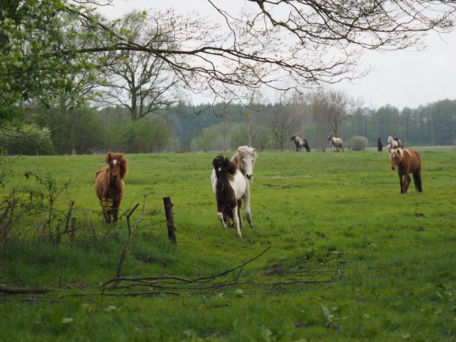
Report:
[{"label": "tall bare tree crown rising above the green bushes at left", "polygon": [[[126,38],[136,44],[171,48],[173,32],[164,31],[166,27],[160,27],[157,21],[146,12],[131,12],[116,26],[128,32]],[[144,51],[122,50],[106,69],[103,102],[124,106],[133,121],[179,102],[179,79],[163,58]]]}]

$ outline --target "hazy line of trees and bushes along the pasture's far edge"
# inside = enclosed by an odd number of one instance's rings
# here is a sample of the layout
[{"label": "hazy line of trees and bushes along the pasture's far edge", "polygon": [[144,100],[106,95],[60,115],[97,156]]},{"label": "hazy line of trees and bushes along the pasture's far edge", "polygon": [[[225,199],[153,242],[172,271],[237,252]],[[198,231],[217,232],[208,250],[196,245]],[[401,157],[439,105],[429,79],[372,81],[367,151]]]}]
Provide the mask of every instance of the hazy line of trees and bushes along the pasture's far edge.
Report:
[{"label": "hazy line of trees and bushes along the pasture's far edge", "polygon": [[456,100],[401,111],[390,105],[374,110],[341,95],[327,91],[287,103],[250,106],[179,104],[141,120],[131,120],[120,106],[42,107],[20,124],[4,124],[0,144],[10,154],[64,155],[228,151],[244,144],[258,151],[285,151],[294,149],[292,135],[305,137],[312,151],[330,148],[330,134],[342,137],[349,149],[355,148],[352,140],[359,136],[367,138],[366,147],[375,146],[378,137],[386,142],[388,136],[400,137],[406,146],[455,142]]}]

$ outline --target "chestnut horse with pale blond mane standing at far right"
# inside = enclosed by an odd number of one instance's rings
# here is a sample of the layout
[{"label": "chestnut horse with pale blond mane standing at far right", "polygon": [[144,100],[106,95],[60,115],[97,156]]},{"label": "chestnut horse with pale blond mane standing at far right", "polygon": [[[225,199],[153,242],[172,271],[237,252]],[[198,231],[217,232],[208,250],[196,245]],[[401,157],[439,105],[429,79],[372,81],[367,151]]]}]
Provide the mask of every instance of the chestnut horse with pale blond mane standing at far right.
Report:
[{"label": "chestnut horse with pale blond mane standing at far right", "polygon": [[423,192],[421,187],[421,159],[419,153],[415,150],[394,149],[390,150],[391,169],[397,169],[399,175],[399,182],[401,183],[401,193],[407,193],[408,186],[410,185],[410,175],[413,175],[413,182],[415,189]]}]

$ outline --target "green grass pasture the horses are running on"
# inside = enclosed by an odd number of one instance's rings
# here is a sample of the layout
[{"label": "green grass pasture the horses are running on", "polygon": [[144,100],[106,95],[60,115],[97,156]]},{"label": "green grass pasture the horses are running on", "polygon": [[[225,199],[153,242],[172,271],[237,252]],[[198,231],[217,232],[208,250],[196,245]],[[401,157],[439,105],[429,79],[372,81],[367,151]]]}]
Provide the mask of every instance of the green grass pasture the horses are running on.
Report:
[{"label": "green grass pasture the horses are running on", "polygon": [[[424,192],[412,181],[406,195],[386,152],[258,153],[255,229],[244,219],[243,239],[216,217],[218,153],[126,155],[122,209],[140,203],[136,220],[146,195],[147,214],[124,276],[207,277],[267,251],[207,286],[116,291],[99,287],[115,276],[127,235],[125,218],[102,223],[93,186],[104,156],[22,158],[2,196],[12,184],[38,187],[23,170],[52,174],[57,187],[70,180],[56,205],[74,200],[91,229],[58,245],[1,246],[0,283],[53,290],[0,292],[0,341],[455,341],[456,151],[420,153]],[[178,246],[167,240],[167,196]],[[158,294],[120,295],[144,289]]]}]

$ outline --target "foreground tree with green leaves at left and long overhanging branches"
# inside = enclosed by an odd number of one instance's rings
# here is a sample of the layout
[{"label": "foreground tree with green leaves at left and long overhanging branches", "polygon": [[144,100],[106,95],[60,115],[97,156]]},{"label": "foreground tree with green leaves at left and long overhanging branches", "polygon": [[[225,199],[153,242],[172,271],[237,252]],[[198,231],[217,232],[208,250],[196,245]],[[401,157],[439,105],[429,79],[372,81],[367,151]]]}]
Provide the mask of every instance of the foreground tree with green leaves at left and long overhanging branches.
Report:
[{"label": "foreground tree with green leaves at left and long overhanging branches", "polygon": [[[456,13],[450,0],[249,0],[240,13],[229,1],[208,0],[221,17],[216,23],[169,12],[158,29],[173,32],[173,44],[156,46],[153,37],[132,41],[89,10],[91,3],[0,2],[0,118],[21,115],[21,102],[32,97],[73,91],[68,70],[99,70],[120,51],[162,59],[192,91],[225,99],[248,100],[262,86],[301,90],[353,79],[365,74],[357,68],[363,49],[420,47],[427,31],[451,30]],[[79,28],[68,28],[75,19]],[[76,35],[83,38],[77,44]]]}]

